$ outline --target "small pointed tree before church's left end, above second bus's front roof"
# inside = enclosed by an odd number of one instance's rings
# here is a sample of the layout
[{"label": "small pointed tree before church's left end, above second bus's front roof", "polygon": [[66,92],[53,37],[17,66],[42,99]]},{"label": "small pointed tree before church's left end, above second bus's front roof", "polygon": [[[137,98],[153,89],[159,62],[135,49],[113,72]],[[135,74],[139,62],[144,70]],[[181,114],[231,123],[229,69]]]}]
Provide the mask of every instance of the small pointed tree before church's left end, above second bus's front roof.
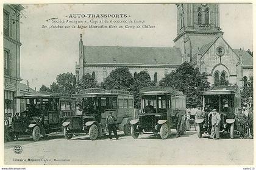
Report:
[{"label": "small pointed tree before church's left end, above second bus's front roof", "polygon": [[91,74],[87,73],[79,80],[79,83],[77,84],[77,91],[97,87],[99,87],[98,82],[93,79]]}]

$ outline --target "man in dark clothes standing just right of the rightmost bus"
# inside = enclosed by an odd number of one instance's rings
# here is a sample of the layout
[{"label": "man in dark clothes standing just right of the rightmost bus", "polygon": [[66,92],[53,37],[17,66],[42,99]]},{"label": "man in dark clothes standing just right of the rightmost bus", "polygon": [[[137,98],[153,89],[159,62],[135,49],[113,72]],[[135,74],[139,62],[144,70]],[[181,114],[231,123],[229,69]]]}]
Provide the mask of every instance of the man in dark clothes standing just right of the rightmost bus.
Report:
[{"label": "man in dark clothes standing just right of the rightmost bus", "polygon": [[245,126],[247,122],[247,116],[244,114],[242,108],[238,108],[238,114],[236,116],[236,127],[240,132],[241,138],[246,137]]}]

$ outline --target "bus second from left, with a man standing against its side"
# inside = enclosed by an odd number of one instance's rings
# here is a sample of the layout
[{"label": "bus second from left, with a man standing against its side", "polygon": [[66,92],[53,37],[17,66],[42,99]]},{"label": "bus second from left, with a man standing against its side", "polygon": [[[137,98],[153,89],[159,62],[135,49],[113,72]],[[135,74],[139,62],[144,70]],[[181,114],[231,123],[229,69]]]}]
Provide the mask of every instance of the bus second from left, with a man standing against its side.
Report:
[{"label": "bus second from left, with a man standing against its side", "polygon": [[133,96],[129,91],[91,88],[79,91],[76,98],[76,116],[63,123],[66,139],[73,135],[89,135],[91,140],[107,133],[105,120],[110,112],[116,118],[116,126],[130,135],[130,120],[134,115]]}]

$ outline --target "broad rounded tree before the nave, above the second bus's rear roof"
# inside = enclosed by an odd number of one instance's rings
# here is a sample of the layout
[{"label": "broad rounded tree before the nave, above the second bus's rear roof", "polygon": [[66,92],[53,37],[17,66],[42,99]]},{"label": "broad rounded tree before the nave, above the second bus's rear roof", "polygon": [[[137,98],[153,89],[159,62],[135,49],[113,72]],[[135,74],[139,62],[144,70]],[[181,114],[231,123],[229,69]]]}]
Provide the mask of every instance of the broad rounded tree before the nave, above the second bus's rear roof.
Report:
[{"label": "broad rounded tree before the nave, above the second bus's rear roof", "polygon": [[105,89],[131,91],[133,83],[132,74],[130,74],[128,68],[124,67],[113,70],[104,82],[101,83],[101,87]]}]

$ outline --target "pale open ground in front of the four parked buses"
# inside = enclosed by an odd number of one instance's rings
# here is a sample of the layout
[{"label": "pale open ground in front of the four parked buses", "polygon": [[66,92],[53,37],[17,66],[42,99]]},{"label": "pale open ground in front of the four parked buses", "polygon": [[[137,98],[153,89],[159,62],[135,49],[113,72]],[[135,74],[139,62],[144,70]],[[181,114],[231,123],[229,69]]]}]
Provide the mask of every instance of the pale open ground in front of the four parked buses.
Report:
[{"label": "pale open ground in front of the four parked buses", "polygon": [[[180,138],[172,133],[166,140],[154,135],[140,135],[136,140],[124,136],[123,132],[119,135],[119,140],[109,140],[105,136],[96,141],[90,141],[88,136],[66,140],[62,134],[37,142],[21,138],[4,144],[4,160],[6,164],[19,165],[253,164],[253,140],[199,139],[196,132],[187,132]],[[23,147],[20,155],[13,152],[16,145]]]}]

